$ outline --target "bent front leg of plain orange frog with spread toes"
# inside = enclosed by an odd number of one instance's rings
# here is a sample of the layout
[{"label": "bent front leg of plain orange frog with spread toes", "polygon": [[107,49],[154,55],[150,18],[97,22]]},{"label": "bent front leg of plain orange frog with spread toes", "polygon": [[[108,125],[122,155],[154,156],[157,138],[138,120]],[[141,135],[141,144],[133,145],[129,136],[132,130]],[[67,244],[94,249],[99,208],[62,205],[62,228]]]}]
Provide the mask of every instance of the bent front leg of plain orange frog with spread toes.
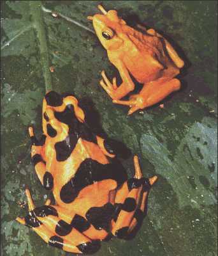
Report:
[{"label": "bent front leg of plain orange frog with spread toes", "polygon": [[115,67],[119,70],[120,77],[122,79],[122,84],[117,86],[116,77],[113,77],[113,82],[111,83],[106,77],[105,71],[101,72],[101,76],[103,79],[100,81],[100,85],[105,89],[105,91],[110,95],[110,97],[114,100],[119,100],[122,97],[126,96],[129,92],[134,90],[134,83],[129,76],[129,72],[122,61],[113,60],[108,55],[110,61],[115,65]]}]

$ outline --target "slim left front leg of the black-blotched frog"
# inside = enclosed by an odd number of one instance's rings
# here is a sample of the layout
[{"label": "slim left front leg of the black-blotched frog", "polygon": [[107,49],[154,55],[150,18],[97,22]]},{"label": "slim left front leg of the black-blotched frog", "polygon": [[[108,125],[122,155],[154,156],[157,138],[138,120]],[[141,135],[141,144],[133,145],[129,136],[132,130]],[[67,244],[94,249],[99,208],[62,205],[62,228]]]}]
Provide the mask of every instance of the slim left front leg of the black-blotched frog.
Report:
[{"label": "slim left front leg of the black-blotched frog", "polygon": [[45,162],[45,139],[43,134],[40,140],[37,140],[33,127],[29,127],[29,136],[31,137],[31,161],[34,164],[36,174],[38,175],[41,184],[45,189],[50,190],[53,188],[53,177],[50,172],[46,170]]}]

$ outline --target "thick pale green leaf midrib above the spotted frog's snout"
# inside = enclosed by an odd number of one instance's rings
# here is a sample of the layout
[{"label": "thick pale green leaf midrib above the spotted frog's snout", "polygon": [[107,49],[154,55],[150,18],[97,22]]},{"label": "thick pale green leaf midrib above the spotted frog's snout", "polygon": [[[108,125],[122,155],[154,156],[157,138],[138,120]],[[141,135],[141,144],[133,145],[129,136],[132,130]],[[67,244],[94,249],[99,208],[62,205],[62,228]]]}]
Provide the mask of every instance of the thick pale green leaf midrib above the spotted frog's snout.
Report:
[{"label": "thick pale green leaf midrib above the spotted frog's snout", "polygon": [[49,55],[47,45],[47,35],[45,24],[43,22],[43,12],[41,10],[41,1],[29,1],[30,12],[33,17],[34,29],[36,29],[38,44],[40,48],[41,68],[45,79],[46,92],[52,90],[52,76],[49,70]]}]

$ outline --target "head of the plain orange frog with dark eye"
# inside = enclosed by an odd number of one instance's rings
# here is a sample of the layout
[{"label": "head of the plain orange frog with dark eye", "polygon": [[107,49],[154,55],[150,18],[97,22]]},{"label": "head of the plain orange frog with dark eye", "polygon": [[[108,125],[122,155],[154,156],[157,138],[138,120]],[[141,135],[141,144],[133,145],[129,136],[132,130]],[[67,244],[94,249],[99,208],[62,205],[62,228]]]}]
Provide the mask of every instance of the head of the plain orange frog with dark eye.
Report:
[{"label": "head of the plain orange frog with dark eye", "polygon": [[106,12],[101,5],[98,5],[98,8],[103,14],[98,13],[87,18],[92,20],[96,35],[103,47],[109,51],[116,50],[123,43],[120,34],[122,33],[122,25],[125,25],[126,22],[118,17],[117,11]]}]

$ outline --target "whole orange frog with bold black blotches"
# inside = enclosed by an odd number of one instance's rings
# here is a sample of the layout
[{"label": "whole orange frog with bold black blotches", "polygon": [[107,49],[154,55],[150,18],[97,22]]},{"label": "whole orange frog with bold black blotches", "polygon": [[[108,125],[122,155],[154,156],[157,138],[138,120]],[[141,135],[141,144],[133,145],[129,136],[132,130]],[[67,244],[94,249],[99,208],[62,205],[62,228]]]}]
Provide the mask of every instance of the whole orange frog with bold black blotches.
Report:
[{"label": "whole orange frog with bold black blotches", "polygon": [[35,207],[26,189],[29,211],[16,220],[66,252],[91,254],[108,236],[125,239],[142,223],[147,196],[157,177],[142,177],[137,156],[131,179],[110,163],[108,157],[116,154],[114,144],[91,131],[73,95],[48,92],[42,115],[41,140],[29,128],[31,158],[55,204],[47,200]]}]

